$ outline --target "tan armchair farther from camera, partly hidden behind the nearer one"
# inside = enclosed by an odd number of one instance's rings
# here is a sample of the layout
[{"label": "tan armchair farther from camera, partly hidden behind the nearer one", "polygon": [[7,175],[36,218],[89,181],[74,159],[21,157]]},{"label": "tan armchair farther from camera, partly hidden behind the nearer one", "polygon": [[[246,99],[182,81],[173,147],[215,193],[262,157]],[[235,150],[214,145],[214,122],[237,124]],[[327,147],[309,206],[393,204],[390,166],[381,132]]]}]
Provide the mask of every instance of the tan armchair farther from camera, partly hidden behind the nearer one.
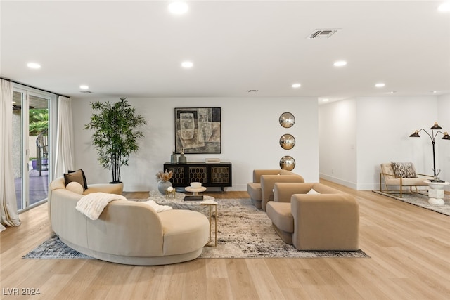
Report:
[{"label": "tan armchair farther from camera, partly hidden behind the nearer one", "polygon": [[276,182],[302,183],[304,179],[302,176],[286,170],[253,170],[253,182],[248,183],[247,192],[255,207],[266,210],[267,202],[274,200],[274,183]]}]

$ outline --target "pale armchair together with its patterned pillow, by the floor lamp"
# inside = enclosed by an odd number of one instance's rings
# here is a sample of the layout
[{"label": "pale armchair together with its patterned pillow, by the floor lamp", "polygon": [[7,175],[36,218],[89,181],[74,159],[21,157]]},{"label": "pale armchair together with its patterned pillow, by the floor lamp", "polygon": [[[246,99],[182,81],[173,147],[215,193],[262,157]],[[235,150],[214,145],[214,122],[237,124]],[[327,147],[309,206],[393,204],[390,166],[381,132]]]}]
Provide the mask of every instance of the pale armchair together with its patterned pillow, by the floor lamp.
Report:
[{"label": "pale armchair together with its patterned pillow, by the floor lamp", "polygon": [[[396,165],[397,164],[397,165]],[[397,167],[397,174],[394,171],[394,167]],[[403,197],[405,193],[404,187],[409,186],[409,193],[418,193],[418,186],[428,186],[423,182],[427,179],[432,179],[433,176],[425,174],[416,174],[416,169],[413,163],[396,163],[385,162],[381,164],[380,171],[380,192],[389,194],[400,194]],[[384,183],[384,189],[383,189]],[[390,189],[390,188],[397,189]],[[413,187],[415,190],[413,190]]]}]

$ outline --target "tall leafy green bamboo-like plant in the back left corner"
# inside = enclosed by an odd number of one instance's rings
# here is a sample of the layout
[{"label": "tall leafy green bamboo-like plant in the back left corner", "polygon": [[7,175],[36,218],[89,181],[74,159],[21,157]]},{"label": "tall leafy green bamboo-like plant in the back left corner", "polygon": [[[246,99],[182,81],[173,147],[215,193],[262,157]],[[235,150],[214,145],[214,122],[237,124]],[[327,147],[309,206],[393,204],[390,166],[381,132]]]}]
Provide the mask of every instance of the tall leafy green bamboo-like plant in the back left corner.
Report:
[{"label": "tall leafy green bamboo-like plant in the back left corner", "polygon": [[91,122],[84,125],[84,129],[94,131],[92,143],[101,167],[111,170],[113,181],[110,183],[121,183],[120,167],[128,166],[129,155],[139,150],[138,141],[143,138],[143,133],[138,128],[147,124],[126,99],[120,98],[115,103],[91,103],[92,109],[98,113],[94,113]]}]

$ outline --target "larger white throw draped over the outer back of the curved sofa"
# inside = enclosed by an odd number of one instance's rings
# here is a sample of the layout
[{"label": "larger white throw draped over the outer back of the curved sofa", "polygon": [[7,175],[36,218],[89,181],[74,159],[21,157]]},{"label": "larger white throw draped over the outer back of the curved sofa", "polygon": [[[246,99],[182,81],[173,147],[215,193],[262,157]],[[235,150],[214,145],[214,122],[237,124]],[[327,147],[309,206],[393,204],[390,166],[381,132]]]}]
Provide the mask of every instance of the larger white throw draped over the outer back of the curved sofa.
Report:
[{"label": "larger white throw draped over the outer back of the curved sofa", "polygon": [[113,200],[127,200],[127,198],[122,195],[109,193],[91,193],[84,195],[82,199],[77,202],[75,209],[86,215],[89,219],[96,220],[106,205]]}]

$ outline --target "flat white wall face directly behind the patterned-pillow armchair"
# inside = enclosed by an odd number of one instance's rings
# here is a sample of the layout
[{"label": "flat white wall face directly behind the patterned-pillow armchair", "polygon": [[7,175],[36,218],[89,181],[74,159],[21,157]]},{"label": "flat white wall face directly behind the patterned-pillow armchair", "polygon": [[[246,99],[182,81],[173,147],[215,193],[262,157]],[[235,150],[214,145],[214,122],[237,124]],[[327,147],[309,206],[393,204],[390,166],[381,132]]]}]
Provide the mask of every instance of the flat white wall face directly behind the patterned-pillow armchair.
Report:
[{"label": "flat white wall face directly behind the patterned-pillow armchair", "polygon": [[[380,184],[381,162],[413,162],[416,171],[432,174],[431,140],[409,138],[416,129],[429,129],[437,118],[435,96],[357,98],[358,189]],[[429,130],[428,130],[429,131]]]}]

